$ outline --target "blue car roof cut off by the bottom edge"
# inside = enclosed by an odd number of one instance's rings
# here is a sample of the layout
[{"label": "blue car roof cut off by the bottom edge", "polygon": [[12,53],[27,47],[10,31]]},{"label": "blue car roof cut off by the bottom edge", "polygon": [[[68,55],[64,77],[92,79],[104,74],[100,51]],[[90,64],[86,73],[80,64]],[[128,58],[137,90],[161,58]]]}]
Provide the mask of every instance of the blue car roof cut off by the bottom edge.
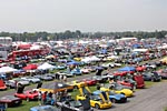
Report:
[{"label": "blue car roof cut off by the bottom edge", "polygon": [[52,105],[38,105],[30,108],[30,111],[61,111],[61,110]]}]

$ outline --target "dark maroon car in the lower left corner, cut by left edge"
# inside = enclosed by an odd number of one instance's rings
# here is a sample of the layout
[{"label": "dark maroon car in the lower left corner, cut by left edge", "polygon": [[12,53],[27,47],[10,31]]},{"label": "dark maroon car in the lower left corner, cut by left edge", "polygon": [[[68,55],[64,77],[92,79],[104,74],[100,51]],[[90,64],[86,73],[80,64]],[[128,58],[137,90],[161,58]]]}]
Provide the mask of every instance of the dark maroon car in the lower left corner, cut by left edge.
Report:
[{"label": "dark maroon car in the lower left corner, cut by left edge", "polygon": [[8,107],[18,107],[22,103],[22,100],[20,98],[17,98],[14,95],[4,95],[0,98],[0,104],[4,104],[6,108]]}]

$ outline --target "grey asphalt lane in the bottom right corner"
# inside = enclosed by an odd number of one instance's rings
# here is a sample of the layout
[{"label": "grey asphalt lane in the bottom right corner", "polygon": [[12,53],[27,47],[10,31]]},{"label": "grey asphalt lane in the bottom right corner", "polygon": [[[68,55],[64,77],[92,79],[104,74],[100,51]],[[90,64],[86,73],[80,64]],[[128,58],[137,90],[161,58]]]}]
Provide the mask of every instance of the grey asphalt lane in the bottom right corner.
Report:
[{"label": "grey asphalt lane in the bottom right corner", "polygon": [[164,111],[167,107],[167,81],[135,92],[126,103],[112,103],[111,109],[95,111]]}]

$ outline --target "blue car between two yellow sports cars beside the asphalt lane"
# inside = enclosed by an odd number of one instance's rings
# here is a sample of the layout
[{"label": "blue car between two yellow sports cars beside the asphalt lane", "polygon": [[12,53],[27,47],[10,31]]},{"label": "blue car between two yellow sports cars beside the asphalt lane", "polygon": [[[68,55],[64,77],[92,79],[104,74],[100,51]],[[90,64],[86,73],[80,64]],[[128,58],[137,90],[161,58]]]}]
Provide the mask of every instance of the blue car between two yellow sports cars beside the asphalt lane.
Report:
[{"label": "blue car between two yellow sports cars beside the asphalt lane", "polygon": [[109,100],[112,102],[112,103],[124,103],[127,101],[127,98],[125,94],[117,94],[112,91],[109,91],[108,92],[109,94]]}]

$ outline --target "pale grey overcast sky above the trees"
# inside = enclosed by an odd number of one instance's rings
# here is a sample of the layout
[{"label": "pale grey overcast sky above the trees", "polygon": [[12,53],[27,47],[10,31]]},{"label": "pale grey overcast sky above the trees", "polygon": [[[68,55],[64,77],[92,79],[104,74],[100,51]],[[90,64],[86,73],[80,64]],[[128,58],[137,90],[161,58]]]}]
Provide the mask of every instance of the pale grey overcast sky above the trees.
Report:
[{"label": "pale grey overcast sky above the trees", "polygon": [[167,30],[167,0],[0,0],[0,31]]}]

